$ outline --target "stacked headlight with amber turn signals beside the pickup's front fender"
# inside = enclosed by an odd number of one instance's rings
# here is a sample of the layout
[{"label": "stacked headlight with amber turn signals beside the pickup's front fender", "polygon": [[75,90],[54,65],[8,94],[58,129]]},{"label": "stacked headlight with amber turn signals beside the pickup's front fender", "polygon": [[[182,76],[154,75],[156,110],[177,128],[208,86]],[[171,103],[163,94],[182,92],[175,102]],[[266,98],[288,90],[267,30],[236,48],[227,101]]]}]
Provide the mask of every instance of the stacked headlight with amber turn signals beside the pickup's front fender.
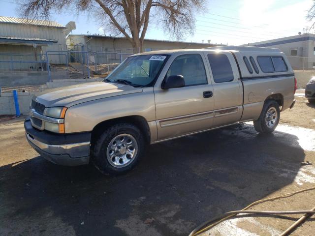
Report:
[{"label": "stacked headlight with amber turn signals beside the pickup's front fender", "polygon": [[[49,107],[45,111],[45,116],[63,119],[66,110],[66,107]],[[53,123],[45,121],[44,129],[54,133],[64,133],[64,123]]]}]

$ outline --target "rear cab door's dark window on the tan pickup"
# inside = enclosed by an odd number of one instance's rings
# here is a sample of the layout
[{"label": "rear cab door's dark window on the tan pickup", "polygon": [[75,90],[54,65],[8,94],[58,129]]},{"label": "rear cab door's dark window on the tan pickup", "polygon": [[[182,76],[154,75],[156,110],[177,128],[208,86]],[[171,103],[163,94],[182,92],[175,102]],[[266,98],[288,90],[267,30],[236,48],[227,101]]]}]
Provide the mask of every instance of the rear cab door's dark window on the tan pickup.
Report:
[{"label": "rear cab door's dark window on the tan pickup", "polygon": [[229,59],[224,54],[208,54],[208,60],[212,75],[216,83],[229,82],[234,80],[234,74]]}]

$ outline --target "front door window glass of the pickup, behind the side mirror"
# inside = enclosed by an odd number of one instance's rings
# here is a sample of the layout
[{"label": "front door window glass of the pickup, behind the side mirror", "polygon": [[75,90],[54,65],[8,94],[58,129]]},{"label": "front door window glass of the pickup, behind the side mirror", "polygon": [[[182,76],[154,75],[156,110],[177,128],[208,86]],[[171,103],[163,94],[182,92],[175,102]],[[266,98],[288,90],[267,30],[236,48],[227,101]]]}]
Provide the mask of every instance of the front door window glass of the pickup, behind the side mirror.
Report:
[{"label": "front door window glass of the pickup, behind the side mirror", "polygon": [[177,57],[169,67],[166,76],[182,75],[186,86],[207,84],[205,66],[199,54]]}]

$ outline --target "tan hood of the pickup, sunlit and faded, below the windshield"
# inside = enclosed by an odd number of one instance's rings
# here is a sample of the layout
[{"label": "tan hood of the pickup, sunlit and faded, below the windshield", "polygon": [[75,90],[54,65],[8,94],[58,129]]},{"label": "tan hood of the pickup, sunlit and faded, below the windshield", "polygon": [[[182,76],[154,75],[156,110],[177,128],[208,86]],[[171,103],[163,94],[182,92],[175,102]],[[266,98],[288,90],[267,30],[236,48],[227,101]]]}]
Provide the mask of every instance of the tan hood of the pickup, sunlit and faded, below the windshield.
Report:
[{"label": "tan hood of the pickup, sunlit and faded, below the windshield", "polygon": [[71,107],[83,102],[142,92],[142,90],[142,88],[123,84],[91,82],[46,90],[39,93],[33,100],[44,104],[45,107]]}]

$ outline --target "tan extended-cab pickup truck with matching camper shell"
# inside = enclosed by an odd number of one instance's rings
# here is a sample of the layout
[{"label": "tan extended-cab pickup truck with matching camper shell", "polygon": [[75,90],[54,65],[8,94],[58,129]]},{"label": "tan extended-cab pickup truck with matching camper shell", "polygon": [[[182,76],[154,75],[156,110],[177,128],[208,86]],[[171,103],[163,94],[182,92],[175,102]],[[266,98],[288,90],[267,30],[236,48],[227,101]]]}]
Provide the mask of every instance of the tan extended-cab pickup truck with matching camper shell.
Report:
[{"label": "tan extended-cab pickup truck with matching camper shell", "polygon": [[[222,46],[128,57],[103,82],[34,97],[30,145],[61,165],[130,170],[147,144],[253,120],[273,132],[294,105],[296,80],[278,49]],[[268,138],[268,137],[266,137]]]}]

